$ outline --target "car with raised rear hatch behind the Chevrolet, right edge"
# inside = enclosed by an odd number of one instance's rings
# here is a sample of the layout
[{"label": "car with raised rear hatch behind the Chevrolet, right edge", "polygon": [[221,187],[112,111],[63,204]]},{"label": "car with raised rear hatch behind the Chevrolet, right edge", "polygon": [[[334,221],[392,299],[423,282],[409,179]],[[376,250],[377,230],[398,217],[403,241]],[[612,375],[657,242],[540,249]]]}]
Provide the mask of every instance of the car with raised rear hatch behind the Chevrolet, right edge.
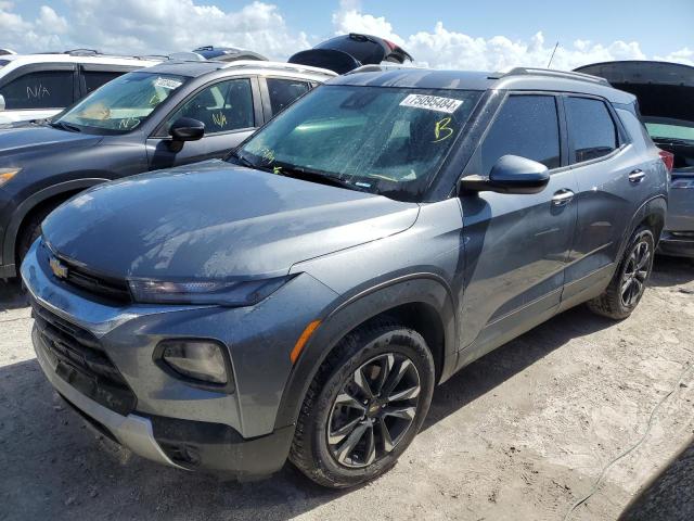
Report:
[{"label": "car with raised rear hatch behind the Chevrolet, right edge", "polygon": [[658,251],[694,258],[694,67],[620,61],[576,71],[603,77],[639,100],[648,135],[673,156],[668,217]]}]

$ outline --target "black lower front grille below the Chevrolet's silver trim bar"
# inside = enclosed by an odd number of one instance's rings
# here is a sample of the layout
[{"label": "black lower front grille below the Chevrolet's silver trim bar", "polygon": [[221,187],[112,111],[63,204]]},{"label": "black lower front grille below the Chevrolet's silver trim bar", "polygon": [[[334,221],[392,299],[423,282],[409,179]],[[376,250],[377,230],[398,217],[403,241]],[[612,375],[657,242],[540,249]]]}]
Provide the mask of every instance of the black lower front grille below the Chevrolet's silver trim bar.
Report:
[{"label": "black lower front grille below the Chevrolet's silver trim bar", "polygon": [[131,412],[137,398],[99,339],[34,301],[31,307],[46,352],[56,365],[55,372],[104,407],[124,416]]}]

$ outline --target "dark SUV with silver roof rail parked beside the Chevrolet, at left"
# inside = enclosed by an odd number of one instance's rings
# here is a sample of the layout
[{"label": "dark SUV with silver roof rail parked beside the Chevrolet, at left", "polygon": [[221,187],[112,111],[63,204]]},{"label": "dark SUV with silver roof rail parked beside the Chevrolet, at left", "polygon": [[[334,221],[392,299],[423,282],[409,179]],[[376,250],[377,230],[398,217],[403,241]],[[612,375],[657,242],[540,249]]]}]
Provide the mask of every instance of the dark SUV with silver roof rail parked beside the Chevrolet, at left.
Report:
[{"label": "dark SUV with silver roof rail parked beside the Chevrolet, at left", "polygon": [[106,84],[51,122],[0,129],[0,278],[43,218],[94,185],[223,157],[325,69],[267,61],[167,61]]}]

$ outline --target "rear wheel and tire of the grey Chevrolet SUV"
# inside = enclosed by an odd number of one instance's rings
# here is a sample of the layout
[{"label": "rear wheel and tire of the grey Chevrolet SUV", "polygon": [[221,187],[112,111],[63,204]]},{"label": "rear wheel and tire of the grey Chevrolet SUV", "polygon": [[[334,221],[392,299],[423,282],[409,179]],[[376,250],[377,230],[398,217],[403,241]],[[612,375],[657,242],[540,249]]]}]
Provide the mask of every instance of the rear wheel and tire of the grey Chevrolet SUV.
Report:
[{"label": "rear wheel and tire of the grey Chevrolet SUV", "polygon": [[615,320],[627,318],[643,296],[653,269],[655,238],[648,228],[639,228],[605,292],[588,302],[591,312]]}]

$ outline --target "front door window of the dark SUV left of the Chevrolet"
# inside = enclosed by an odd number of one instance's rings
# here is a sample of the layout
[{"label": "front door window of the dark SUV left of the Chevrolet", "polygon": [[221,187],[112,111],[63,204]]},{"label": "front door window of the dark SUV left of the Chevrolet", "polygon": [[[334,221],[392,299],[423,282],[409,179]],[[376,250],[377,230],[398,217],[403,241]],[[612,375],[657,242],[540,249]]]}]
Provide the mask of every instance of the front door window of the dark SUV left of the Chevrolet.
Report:
[{"label": "front door window of the dark SUV left of the Chevrolet", "polygon": [[193,94],[167,119],[167,135],[171,124],[181,117],[204,123],[206,136],[254,127],[250,80],[219,81]]}]

